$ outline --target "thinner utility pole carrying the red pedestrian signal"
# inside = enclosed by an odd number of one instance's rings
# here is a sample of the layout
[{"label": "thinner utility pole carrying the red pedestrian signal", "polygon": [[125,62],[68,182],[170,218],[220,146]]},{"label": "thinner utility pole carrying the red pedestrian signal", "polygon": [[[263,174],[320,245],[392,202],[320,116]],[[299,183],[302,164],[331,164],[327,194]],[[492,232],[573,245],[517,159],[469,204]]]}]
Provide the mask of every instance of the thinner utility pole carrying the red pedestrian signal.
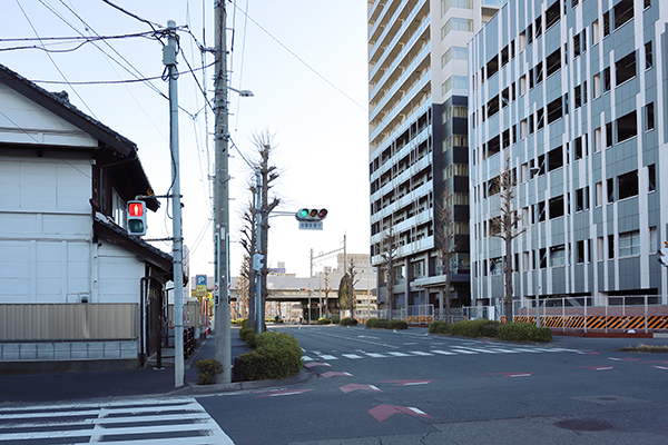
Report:
[{"label": "thinner utility pole carrying the red pedestrian signal", "polygon": [[184,386],[184,273],[181,251],[180,176],[178,154],[178,89],[176,79],[176,22],[167,21],[169,38],[163,47],[163,63],[169,73],[169,148],[171,150],[173,244],[174,267],[174,386]]}]

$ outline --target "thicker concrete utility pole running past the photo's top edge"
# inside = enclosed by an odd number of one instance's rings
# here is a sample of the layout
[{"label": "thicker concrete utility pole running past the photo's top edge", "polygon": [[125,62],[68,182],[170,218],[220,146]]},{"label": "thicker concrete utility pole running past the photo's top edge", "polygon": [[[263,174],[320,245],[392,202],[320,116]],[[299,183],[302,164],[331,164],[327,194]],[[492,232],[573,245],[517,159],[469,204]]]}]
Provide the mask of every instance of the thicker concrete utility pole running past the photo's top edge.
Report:
[{"label": "thicker concrete utility pole running past the photo's top edge", "polygon": [[232,382],[232,343],[229,338],[229,175],[227,130],[227,49],[225,1],[214,1],[215,16],[215,151],[216,175],[214,182],[214,246],[216,251],[216,360],[223,364],[223,373],[216,383]]}]

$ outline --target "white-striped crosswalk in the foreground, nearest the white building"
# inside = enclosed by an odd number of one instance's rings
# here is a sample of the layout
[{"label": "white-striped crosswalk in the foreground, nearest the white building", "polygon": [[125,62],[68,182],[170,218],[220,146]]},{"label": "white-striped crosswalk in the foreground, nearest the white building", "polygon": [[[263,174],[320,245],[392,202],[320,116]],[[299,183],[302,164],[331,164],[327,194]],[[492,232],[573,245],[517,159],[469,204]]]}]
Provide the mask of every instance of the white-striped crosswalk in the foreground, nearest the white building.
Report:
[{"label": "white-striped crosswalk in the foreground, nearest the white building", "polygon": [[0,407],[0,444],[230,444],[194,398]]}]

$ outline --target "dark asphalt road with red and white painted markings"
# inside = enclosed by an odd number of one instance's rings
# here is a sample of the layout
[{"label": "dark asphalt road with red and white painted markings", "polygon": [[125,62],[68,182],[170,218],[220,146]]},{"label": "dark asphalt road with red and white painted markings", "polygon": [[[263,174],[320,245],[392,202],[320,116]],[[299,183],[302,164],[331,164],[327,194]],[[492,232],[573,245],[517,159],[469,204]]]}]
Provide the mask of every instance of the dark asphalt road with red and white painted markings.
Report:
[{"label": "dark asphalt road with red and white painted markings", "polygon": [[[668,355],[612,350],[626,340],[556,337],[539,345],[420,328],[276,329],[297,337],[317,378],[112,406],[0,407],[0,445],[668,443]],[[55,429],[47,413],[67,413],[73,423]],[[3,416],[21,428],[3,429]]]}]

